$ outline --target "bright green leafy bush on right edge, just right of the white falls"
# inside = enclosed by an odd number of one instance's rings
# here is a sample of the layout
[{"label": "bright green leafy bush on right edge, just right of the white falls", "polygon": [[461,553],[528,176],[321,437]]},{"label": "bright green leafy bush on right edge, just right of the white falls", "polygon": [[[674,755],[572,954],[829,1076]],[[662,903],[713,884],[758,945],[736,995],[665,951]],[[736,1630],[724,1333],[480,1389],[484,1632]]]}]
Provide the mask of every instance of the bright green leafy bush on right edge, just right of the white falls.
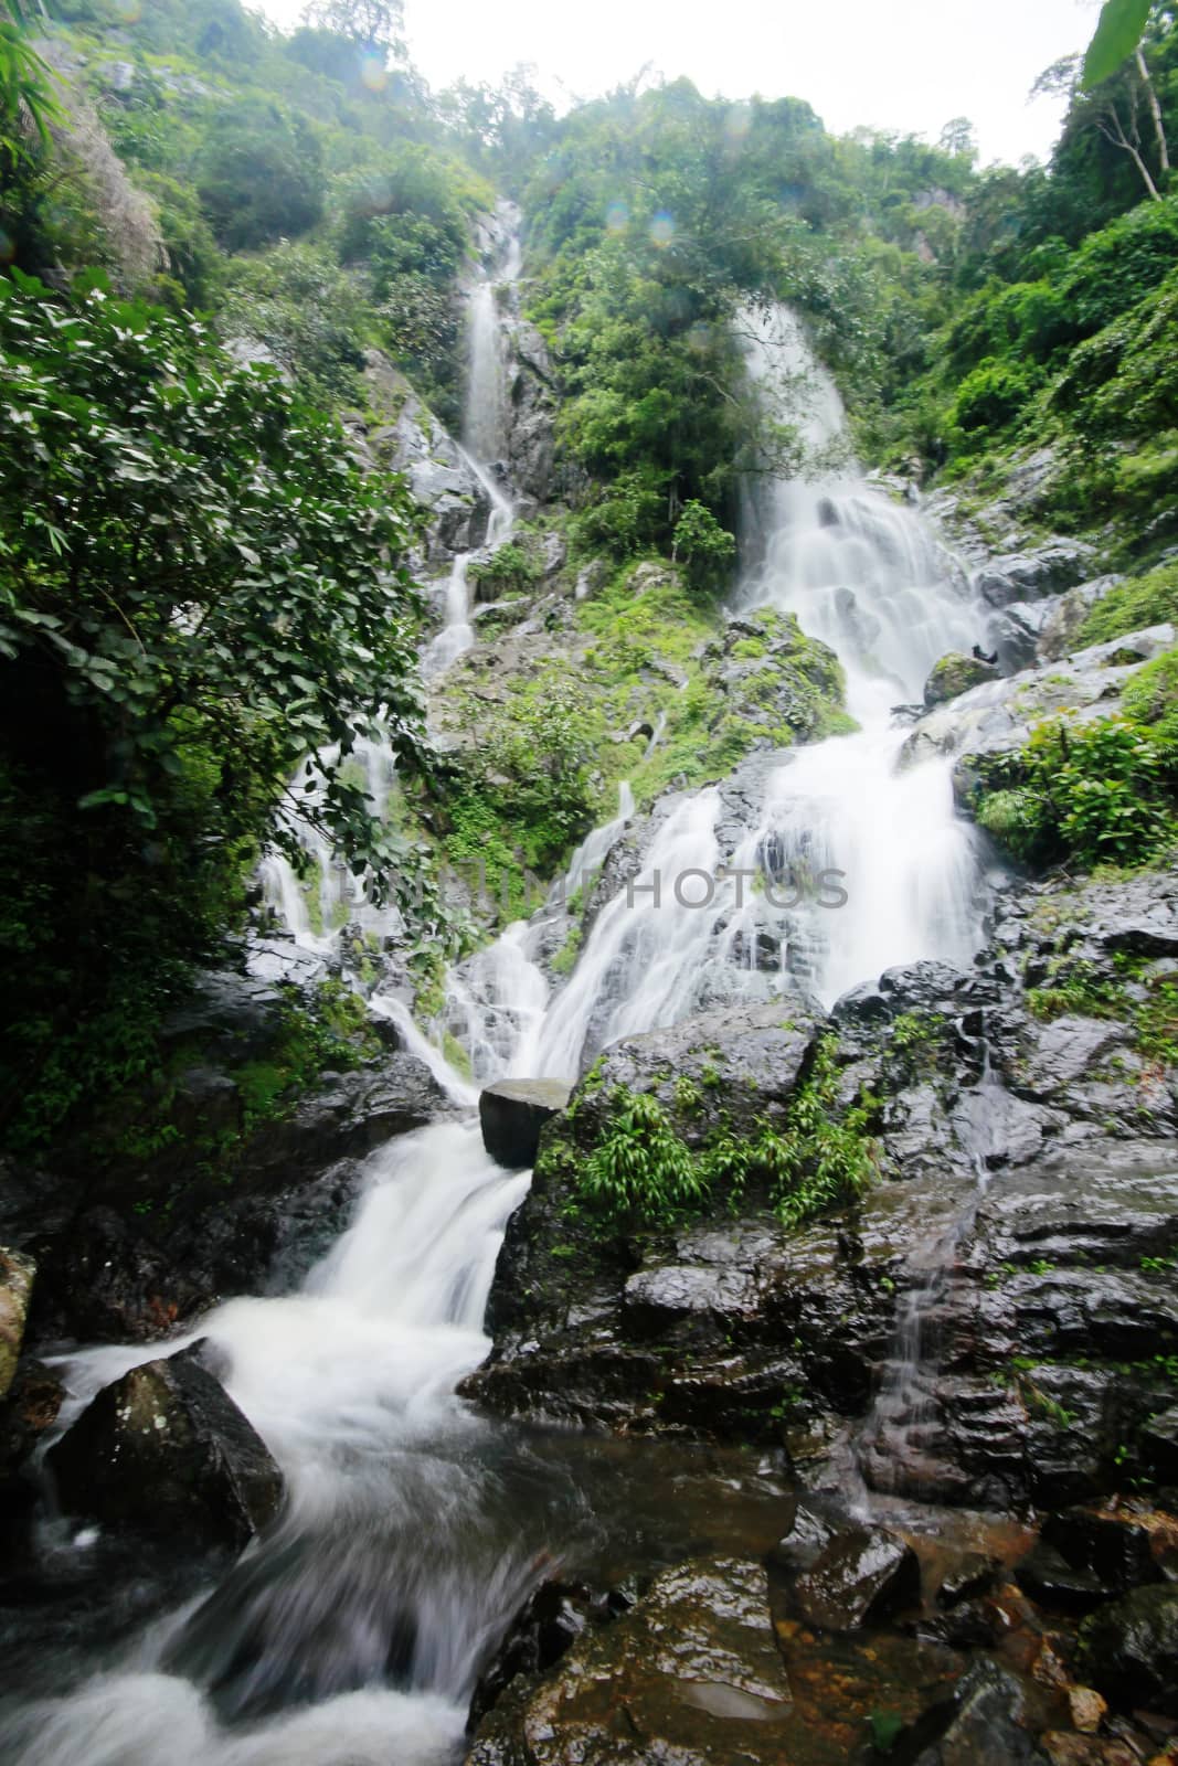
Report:
[{"label": "bright green leafy bush on right edge, just right of the white falls", "polygon": [[1171,835],[1162,749],[1123,717],[1044,722],[984,779],[978,823],[1033,864],[1141,864]]}]

